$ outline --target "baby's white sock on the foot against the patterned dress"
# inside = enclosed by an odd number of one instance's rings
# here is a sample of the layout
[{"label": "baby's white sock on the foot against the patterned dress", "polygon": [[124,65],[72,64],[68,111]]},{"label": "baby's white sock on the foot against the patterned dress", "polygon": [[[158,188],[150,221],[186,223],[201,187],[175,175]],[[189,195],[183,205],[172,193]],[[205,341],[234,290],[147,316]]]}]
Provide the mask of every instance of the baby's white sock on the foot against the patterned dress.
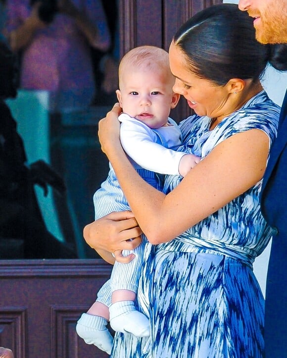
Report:
[{"label": "baby's white sock on the foot against the patterned dress", "polygon": [[149,320],[139,312],[134,301],[120,301],[109,307],[110,325],[116,332],[132,333],[137,337],[149,336]]}]

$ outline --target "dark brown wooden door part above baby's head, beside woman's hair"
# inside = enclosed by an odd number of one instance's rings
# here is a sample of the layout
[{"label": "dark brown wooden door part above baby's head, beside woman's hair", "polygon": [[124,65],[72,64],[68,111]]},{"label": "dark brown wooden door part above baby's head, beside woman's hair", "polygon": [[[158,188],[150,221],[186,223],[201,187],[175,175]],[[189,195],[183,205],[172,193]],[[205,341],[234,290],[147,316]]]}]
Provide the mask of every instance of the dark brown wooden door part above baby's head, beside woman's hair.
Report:
[{"label": "dark brown wooden door part above baby's head, beside woman's hair", "polygon": [[120,55],[141,45],[168,50],[185,21],[218,3],[222,0],[119,0]]}]

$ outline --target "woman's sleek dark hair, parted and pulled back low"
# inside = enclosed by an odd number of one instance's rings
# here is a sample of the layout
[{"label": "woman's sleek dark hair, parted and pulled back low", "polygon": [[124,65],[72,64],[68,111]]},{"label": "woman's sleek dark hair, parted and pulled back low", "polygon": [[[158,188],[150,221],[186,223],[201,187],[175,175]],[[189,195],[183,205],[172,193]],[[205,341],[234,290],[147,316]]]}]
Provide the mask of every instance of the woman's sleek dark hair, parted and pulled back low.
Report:
[{"label": "woman's sleek dark hair, parted and pulled back low", "polygon": [[213,5],[198,12],[173,40],[194,74],[220,86],[231,78],[257,81],[272,55],[272,46],[255,39],[253,19],[237,4]]}]

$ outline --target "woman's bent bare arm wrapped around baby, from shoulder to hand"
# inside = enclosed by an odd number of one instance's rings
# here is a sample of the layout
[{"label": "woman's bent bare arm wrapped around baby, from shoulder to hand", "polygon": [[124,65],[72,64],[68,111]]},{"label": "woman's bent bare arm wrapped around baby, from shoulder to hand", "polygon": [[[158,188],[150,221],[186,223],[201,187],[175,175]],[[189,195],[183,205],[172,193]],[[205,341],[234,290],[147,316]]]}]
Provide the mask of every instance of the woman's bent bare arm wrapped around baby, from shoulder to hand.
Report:
[{"label": "woman's bent bare arm wrapped around baby, from shoulder to hand", "polygon": [[217,145],[168,195],[148,185],[127,159],[115,106],[99,122],[99,139],[139,223],[152,244],[170,241],[255,185],[263,176],[268,136],[257,129]]}]

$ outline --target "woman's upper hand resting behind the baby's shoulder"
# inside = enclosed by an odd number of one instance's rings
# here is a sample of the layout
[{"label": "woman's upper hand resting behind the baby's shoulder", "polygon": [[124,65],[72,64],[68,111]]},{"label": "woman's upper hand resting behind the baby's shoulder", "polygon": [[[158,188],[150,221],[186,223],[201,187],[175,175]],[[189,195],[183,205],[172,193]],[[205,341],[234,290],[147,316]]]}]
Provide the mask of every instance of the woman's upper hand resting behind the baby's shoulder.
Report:
[{"label": "woman's upper hand resting behind the baby's shoulder", "polygon": [[98,138],[103,153],[108,154],[109,147],[121,147],[120,122],[118,117],[122,112],[119,103],[107,113],[106,117],[98,122]]}]

